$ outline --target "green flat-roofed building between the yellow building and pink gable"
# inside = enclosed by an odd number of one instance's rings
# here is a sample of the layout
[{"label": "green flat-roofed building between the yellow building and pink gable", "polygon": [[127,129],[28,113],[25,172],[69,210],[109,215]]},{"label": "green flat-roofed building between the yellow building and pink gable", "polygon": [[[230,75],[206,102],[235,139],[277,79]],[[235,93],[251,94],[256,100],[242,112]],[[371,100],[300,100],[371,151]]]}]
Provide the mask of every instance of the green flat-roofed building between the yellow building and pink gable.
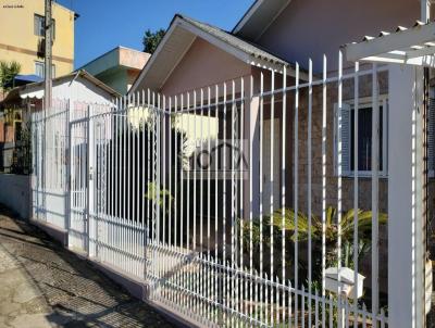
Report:
[{"label": "green flat-roofed building between the yellow building and pink gable", "polygon": [[80,67],[121,94],[127,93],[150,54],[116,47]]}]

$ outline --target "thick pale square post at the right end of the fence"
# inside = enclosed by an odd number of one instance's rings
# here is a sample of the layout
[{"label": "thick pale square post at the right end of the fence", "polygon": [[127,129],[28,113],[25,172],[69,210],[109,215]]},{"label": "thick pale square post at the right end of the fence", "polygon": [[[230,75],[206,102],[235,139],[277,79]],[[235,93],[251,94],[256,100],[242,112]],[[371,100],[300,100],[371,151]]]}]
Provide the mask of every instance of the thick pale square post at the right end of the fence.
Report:
[{"label": "thick pale square post at the right end of the fence", "polygon": [[423,68],[388,72],[388,324],[424,327]]}]

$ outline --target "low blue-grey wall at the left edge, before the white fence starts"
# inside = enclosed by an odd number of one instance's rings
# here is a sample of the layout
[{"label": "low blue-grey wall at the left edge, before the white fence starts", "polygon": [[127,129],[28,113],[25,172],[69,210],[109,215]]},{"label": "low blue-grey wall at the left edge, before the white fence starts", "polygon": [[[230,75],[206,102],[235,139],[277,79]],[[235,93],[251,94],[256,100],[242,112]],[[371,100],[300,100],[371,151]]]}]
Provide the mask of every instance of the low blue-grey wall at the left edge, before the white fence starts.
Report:
[{"label": "low blue-grey wall at the left edge, before the white fence starts", "polygon": [[29,176],[0,174],[0,203],[27,219],[30,209],[29,186]]}]

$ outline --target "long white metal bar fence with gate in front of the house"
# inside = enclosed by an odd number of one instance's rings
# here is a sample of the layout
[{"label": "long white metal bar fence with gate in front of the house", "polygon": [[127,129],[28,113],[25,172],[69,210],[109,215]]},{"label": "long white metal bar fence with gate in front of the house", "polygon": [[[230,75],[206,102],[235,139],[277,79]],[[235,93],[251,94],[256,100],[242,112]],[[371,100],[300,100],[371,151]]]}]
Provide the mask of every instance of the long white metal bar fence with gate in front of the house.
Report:
[{"label": "long white metal bar fence with gate in front of the house", "polygon": [[35,114],[35,217],[200,325],[385,327],[388,79],[321,64]]}]

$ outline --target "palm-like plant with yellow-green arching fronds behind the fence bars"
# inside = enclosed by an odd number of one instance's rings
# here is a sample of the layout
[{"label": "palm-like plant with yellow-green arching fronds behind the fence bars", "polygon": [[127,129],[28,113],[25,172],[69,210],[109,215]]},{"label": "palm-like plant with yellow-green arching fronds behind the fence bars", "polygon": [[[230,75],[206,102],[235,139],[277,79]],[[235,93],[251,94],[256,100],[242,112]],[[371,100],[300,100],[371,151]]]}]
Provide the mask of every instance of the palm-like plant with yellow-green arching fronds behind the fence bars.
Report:
[{"label": "palm-like plant with yellow-green arching fronds behind the fence bars", "polygon": [[[366,254],[371,249],[371,231],[372,231],[372,212],[358,210],[358,242],[357,250],[353,250],[353,232],[355,232],[355,211],[350,210],[341,214],[339,227],[341,237],[341,248],[343,248],[343,264],[349,267],[353,266],[353,254],[355,251],[358,252],[357,258],[360,261],[364,254]],[[384,225],[387,223],[387,215],[384,213],[378,214],[378,224]],[[309,236],[311,236],[311,247],[312,252],[321,254],[322,253],[322,241],[323,241],[323,226],[325,231],[325,242],[326,242],[326,265],[337,264],[337,240],[338,240],[338,223],[337,223],[337,210],[334,207],[326,209],[324,225],[322,218],[312,215],[311,219],[299,212],[295,215],[295,211],[290,209],[279,209],[272,213],[270,216],[263,217],[263,223],[260,225],[259,220],[241,222],[241,229],[244,234],[244,245],[247,247],[250,243],[250,238],[252,236],[252,244],[254,248],[254,253],[259,253],[259,244],[262,242],[263,247],[271,247],[271,225],[274,227],[273,232],[274,238],[274,249],[278,251],[282,245],[282,235],[283,230],[285,232],[285,242],[287,247],[291,247],[296,240],[301,244],[300,250],[307,248],[307,242]],[[252,230],[251,230],[252,229]],[[248,251],[248,250],[247,250]],[[293,265],[293,252],[286,252],[286,265]],[[307,270],[307,263],[303,263],[303,257],[299,258],[298,265],[300,269]],[[321,256],[312,257],[312,273],[313,279],[319,278],[322,269]],[[254,258],[256,262],[256,258]],[[274,262],[274,265],[279,265],[279,258]]]}]

